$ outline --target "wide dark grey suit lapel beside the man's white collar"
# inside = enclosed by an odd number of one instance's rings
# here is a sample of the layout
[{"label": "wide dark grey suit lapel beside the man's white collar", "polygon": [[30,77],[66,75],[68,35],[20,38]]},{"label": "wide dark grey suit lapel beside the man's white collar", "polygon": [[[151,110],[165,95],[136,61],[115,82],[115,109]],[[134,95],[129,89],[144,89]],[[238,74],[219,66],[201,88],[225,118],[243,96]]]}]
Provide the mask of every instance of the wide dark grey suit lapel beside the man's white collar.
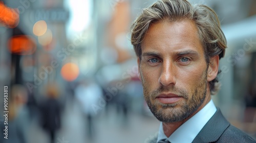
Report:
[{"label": "wide dark grey suit lapel beside the man's white collar", "polygon": [[205,124],[193,142],[215,142],[229,125],[230,123],[225,119],[218,108],[216,113]]}]

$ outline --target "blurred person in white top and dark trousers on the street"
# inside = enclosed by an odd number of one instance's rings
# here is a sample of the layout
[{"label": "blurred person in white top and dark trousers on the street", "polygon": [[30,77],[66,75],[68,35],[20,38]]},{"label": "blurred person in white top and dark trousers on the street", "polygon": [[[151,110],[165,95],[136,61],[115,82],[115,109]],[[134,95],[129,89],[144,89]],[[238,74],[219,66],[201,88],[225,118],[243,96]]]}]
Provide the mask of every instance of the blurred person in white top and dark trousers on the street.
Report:
[{"label": "blurred person in white top and dark trousers on the street", "polygon": [[[75,89],[75,97],[81,107],[86,124],[86,132],[89,139],[93,139],[95,133],[94,119],[106,105],[102,95],[102,88],[94,79],[85,79]],[[103,101],[102,101],[103,100]],[[102,101],[102,102],[99,102]]]}]

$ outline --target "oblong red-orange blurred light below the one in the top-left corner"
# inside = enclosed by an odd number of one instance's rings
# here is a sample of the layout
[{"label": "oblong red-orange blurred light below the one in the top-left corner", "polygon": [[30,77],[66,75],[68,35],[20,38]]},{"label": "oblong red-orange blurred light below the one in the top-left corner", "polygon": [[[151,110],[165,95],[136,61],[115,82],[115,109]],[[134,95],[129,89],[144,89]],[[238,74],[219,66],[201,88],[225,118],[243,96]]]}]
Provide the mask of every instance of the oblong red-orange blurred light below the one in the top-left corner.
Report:
[{"label": "oblong red-orange blurred light below the one in the top-left corner", "polygon": [[28,35],[16,35],[9,39],[9,50],[12,54],[31,55],[36,50],[35,40]]}]

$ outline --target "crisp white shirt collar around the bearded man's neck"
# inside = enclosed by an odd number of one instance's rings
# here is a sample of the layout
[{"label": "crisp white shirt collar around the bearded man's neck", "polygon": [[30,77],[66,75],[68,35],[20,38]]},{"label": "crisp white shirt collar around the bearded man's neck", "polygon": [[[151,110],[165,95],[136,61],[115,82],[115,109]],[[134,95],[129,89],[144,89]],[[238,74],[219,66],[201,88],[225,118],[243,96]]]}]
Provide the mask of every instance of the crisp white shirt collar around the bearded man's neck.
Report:
[{"label": "crisp white shirt collar around the bearded man's neck", "polygon": [[[210,100],[199,112],[189,118],[184,124],[182,124],[172,135],[166,137],[163,132],[162,122],[159,127],[157,142],[161,139],[166,139],[172,143],[177,142],[192,142],[197,134],[201,131],[204,125],[210,120],[210,118],[217,111],[214,102]],[[184,137],[185,135],[185,137]]]}]

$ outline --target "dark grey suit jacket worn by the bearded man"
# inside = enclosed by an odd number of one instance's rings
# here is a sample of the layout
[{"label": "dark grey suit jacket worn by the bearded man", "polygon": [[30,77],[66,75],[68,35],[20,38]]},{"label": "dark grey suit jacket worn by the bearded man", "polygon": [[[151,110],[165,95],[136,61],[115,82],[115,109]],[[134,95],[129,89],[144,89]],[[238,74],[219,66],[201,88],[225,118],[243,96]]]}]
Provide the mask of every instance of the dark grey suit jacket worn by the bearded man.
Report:
[{"label": "dark grey suit jacket worn by the bearded man", "polygon": [[[186,136],[186,135],[184,135]],[[148,143],[156,143],[157,136],[154,136]],[[230,142],[230,143],[256,143],[249,135],[230,125],[222,115],[220,109],[210,118],[203,129],[198,133],[193,143],[201,142]]]}]

